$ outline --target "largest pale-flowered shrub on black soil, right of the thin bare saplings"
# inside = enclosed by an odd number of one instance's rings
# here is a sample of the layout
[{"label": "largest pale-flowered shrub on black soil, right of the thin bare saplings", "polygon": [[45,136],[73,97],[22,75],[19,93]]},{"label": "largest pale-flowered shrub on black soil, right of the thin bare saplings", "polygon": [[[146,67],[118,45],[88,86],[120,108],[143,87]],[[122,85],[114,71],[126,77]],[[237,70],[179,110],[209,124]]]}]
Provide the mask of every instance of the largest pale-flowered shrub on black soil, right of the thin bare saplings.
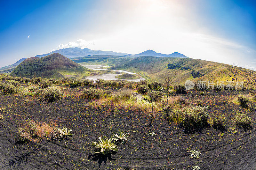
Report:
[{"label": "largest pale-flowered shrub on black soil, right of the thin bare saplings", "polygon": [[201,106],[184,107],[170,112],[168,119],[182,124],[184,127],[202,128],[211,117],[206,111],[207,108]]}]

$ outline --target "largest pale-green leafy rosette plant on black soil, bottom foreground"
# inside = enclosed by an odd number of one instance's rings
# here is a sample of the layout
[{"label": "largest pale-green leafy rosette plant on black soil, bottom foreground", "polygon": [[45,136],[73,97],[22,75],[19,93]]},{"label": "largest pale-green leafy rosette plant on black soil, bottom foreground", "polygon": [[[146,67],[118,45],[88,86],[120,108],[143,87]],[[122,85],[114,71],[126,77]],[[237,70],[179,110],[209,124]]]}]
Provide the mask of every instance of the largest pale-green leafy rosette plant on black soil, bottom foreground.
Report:
[{"label": "largest pale-green leafy rosette plant on black soil, bottom foreground", "polygon": [[111,153],[112,151],[118,151],[117,145],[112,142],[113,137],[107,139],[107,137],[103,136],[103,138],[99,137],[99,139],[99,143],[92,142],[92,146],[94,148],[98,148],[97,152],[95,153],[102,153],[103,155],[106,155],[108,153]]}]

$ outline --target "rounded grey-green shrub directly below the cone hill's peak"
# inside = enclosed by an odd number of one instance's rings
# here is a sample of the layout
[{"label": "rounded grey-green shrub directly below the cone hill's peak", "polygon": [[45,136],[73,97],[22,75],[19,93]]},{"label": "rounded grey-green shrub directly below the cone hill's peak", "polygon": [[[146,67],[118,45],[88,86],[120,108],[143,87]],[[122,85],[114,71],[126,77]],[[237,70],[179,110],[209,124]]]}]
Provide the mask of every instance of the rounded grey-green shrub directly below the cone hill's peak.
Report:
[{"label": "rounded grey-green shrub directly below the cone hill's peak", "polygon": [[62,94],[63,92],[57,88],[49,88],[42,93],[42,96],[44,101],[52,102],[60,99]]}]

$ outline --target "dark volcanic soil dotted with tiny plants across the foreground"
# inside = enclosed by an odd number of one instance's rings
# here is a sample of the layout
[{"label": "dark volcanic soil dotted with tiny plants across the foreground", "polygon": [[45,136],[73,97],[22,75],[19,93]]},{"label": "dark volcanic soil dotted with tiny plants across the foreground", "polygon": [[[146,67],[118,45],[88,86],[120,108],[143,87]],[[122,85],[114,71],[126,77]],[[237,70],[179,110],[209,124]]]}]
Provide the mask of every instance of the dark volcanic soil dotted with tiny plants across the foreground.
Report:
[{"label": "dark volcanic soil dotted with tiny plants across the foreground", "polygon": [[[135,108],[88,107],[76,97],[47,103],[49,114],[59,127],[73,130],[67,140],[42,139],[21,143],[17,129],[28,118],[49,123],[49,118],[38,97],[0,95],[0,107],[8,107],[0,120],[1,169],[256,169],[255,104],[244,109],[231,102],[243,91],[198,92],[182,94],[188,100],[202,100],[209,113],[227,117],[226,129],[208,127],[187,132],[174,123],[153,118]],[[196,96],[196,94],[198,96]],[[177,96],[178,94],[173,94]],[[24,100],[30,99],[26,103]],[[230,132],[236,113],[245,112],[252,118],[252,129]],[[129,133],[126,144],[119,144],[116,154],[106,157],[94,155],[93,141],[99,136],[113,136],[119,129]],[[155,137],[149,133],[154,132]],[[222,134],[223,133],[223,134]],[[190,159],[187,149],[200,151],[199,159]]]}]

